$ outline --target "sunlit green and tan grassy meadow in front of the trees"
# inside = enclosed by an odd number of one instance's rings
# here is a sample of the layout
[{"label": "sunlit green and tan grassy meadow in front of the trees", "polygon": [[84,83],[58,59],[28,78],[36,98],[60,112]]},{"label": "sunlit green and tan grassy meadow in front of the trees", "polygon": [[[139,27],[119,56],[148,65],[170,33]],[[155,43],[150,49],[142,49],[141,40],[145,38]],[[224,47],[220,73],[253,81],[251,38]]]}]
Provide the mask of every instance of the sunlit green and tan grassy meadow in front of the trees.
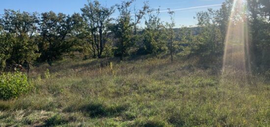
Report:
[{"label": "sunlit green and tan grassy meadow in front of the trees", "polygon": [[219,62],[130,59],[40,64],[30,70],[33,92],[0,101],[0,126],[270,126],[265,76],[244,83],[236,71],[221,76]]}]

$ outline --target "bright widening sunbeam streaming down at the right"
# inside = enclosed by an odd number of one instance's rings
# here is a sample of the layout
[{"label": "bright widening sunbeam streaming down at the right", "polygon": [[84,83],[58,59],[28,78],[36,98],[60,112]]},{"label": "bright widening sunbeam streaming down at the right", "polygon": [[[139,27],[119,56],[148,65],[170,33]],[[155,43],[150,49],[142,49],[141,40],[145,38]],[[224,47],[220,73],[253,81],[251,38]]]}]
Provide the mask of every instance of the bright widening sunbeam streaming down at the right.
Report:
[{"label": "bright widening sunbeam streaming down at the right", "polygon": [[247,82],[250,72],[246,2],[234,0],[226,32],[222,76]]}]

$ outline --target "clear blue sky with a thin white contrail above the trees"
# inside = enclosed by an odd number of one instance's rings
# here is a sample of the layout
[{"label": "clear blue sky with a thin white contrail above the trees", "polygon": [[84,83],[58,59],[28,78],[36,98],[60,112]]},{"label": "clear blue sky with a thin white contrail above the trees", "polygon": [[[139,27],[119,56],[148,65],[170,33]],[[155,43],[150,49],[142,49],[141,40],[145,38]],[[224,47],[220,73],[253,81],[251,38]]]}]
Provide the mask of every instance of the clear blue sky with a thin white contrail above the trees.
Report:
[{"label": "clear blue sky with a thin white contrail above the trees", "polygon": [[[110,7],[122,0],[99,0],[103,6]],[[143,1],[136,0],[134,5],[136,8],[143,6]],[[220,4],[224,0],[148,0],[151,8],[160,8],[161,11],[170,8],[175,9],[174,19],[176,26],[181,25],[196,25],[196,12],[206,11],[207,8],[219,9]],[[1,0],[0,1],[0,14],[3,14],[4,9],[13,9],[27,12],[48,12],[54,11],[55,13],[73,14],[74,12],[80,13],[81,8],[87,0]],[[117,16],[117,10],[112,16]],[[167,12],[161,12],[160,18],[164,22],[169,21]]]}]

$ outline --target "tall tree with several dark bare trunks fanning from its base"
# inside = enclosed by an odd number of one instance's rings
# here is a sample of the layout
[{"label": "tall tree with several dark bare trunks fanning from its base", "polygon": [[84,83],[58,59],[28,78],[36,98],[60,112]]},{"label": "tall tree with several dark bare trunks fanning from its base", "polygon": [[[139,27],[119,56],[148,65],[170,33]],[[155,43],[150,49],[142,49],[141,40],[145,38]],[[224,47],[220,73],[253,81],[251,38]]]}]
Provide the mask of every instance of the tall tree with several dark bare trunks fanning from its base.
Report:
[{"label": "tall tree with several dark bare trunks fanning from its base", "polygon": [[109,25],[112,20],[111,14],[114,12],[114,6],[110,8],[102,7],[98,0],[93,2],[88,0],[88,4],[81,8],[82,17],[87,25],[85,41],[91,45],[91,50],[97,51],[98,58],[101,58],[105,45],[108,42]]}]

